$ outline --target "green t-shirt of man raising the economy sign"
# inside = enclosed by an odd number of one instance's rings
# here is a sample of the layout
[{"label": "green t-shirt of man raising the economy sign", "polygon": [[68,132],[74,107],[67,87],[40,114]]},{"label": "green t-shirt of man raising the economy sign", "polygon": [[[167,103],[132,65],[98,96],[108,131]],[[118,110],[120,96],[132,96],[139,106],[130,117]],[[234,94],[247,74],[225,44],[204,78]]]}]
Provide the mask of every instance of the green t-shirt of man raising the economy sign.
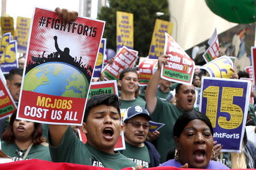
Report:
[{"label": "green t-shirt of man raising the economy sign", "polygon": [[155,111],[150,115],[152,121],[166,124],[159,129],[160,135],[155,140],[155,147],[161,155],[160,163],[166,161],[168,152],[175,147],[173,131],[177,118],[185,111],[157,97]]}]

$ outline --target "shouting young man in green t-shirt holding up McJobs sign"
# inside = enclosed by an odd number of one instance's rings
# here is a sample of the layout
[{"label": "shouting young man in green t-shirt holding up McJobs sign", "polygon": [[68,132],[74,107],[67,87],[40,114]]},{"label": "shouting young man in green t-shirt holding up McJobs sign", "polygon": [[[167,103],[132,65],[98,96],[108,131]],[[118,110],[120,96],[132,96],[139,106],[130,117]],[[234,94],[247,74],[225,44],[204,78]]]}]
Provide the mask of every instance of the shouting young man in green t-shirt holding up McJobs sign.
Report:
[{"label": "shouting young man in green t-shirt holding up McJobs sign", "polygon": [[86,105],[81,128],[88,140],[86,144],[76,137],[71,126],[49,125],[52,160],[112,169],[135,167],[137,164],[114,151],[122,129],[117,95],[92,96]]}]

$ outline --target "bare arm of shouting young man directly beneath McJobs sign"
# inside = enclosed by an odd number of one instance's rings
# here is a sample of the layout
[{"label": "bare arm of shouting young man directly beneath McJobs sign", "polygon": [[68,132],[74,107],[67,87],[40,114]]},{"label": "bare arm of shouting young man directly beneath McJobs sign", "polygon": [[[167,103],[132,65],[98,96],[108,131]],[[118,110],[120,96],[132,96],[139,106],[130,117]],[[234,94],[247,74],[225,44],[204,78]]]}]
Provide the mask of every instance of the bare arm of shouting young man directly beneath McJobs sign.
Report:
[{"label": "bare arm of shouting young man directly beneath McJobs sign", "polygon": [[49,125],[49,135],[51,137],[52,146],[57,147],[60,145],[67,129],[67,125]]}]

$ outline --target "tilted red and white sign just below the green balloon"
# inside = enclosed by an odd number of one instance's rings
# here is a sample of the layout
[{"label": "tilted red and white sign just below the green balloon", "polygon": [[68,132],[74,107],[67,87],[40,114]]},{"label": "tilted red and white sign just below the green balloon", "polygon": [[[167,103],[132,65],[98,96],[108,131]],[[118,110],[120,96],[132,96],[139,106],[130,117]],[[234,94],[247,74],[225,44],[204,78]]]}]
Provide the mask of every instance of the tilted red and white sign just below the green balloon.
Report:
[{"label": "tilted red and white sign just below the green balloon", "polygon": [[216,28],[214,30],[212,37],[209,39],[208,44],[210,46],[207,50],[205,50],[203,54],[205,62],[210,62],[213,59],[216,59],[220,54],[220,47],[218,46],[218,35]]}]

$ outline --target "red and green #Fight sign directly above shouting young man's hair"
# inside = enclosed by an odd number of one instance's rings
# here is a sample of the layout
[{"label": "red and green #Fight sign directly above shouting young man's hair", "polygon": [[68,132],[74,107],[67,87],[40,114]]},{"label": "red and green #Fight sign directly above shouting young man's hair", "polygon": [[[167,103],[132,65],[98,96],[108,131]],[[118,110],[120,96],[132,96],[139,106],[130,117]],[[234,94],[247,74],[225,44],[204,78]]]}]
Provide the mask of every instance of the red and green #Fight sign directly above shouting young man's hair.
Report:
[{"label": "red and green #Fight sign directly above shouting young man's hair", "polygon": [[90,85],[88,99],[100,94],[115,94],[118,96],[117,80],[92,82]]}]

